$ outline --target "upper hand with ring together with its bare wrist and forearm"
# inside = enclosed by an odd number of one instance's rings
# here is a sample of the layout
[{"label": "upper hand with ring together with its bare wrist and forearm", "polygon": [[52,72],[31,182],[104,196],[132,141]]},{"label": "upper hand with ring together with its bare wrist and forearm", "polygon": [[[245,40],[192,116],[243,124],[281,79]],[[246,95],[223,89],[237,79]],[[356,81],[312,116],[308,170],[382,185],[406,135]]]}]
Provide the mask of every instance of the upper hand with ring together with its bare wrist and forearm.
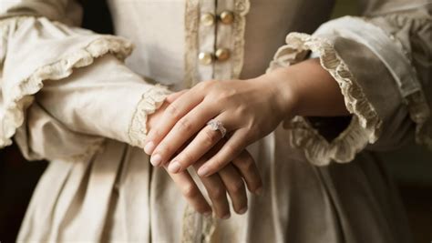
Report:
[{"label": "upper hand with ring together with its bare wrist and forearm", "polygon": [[[296,115],[348,115],[339,86],[318,59],[254,79],[207,81],[194,86],[166,109],[162,122],[150,131],[145,151],[151,154],[154,166],[170,161],[171,173],[184,171],[219,142],[221,132],[206,124],[213,118],[221,121],[229,138],[199,169],[198,174],[205,177],[271,133],[283,119]],[[195,137],[190,145],[171,159],[190,137]]]}]

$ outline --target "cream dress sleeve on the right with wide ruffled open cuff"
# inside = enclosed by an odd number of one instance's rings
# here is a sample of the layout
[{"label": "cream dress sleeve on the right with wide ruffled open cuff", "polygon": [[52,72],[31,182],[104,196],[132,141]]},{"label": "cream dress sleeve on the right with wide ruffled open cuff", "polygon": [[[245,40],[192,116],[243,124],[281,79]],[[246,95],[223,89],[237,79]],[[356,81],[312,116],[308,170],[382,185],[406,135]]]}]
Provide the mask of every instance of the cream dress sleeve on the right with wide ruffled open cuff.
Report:
[{"label": "cream dress sleeve on the right with wide ruffled open cuff", "polygon": [[369,2],[380,5],[324,23],[313,35],[287,35],[268,69],[294,65],[312,51],[345,96],[352,117],[335,137],[318,125],[336,126],[331,118],[284,122],[293,147],[314,165],[349,162],[363,149],[394,149],[413,139],[432,147],[432,4]]}]

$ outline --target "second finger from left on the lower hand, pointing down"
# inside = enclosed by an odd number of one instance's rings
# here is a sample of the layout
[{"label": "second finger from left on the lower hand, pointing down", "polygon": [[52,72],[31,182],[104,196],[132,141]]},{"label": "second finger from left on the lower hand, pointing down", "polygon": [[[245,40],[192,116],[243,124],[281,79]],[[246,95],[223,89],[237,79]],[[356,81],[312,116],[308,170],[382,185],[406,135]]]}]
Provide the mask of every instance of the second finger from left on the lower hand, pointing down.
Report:
[{"label": "second finger from left on the lower hand, pointing down", "polygon": [[[195,164],[195,169],[198,169],[202,163],[204,163],[204,160],[201,160],[199,163]],[[222,219],[230,218],[231,212],[227,198],[227,190],[223,185],[221,177],[219,177],[218,174],[211,175],[210,177],[202,177],[201,182],[209,194],[216,216]]]}]

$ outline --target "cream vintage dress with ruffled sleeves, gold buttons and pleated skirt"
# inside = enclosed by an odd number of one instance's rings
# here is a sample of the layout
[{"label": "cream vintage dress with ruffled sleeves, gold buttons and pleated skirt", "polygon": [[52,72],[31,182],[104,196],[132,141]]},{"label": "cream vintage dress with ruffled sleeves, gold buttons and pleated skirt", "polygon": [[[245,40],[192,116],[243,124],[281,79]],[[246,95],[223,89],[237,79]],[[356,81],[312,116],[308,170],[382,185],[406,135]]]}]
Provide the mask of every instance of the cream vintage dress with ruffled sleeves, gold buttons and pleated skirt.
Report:
[{"label": "cream vintage dress with ruffled sleeves, gold buttons and pleated skirt", "polygon": [[[27,158],[51,161],[18,241],[409,242],[375,153],[432,145],[432,2],[360,4],[361,17],[325,23],[333,1],[108,0],[112,36],[79,28],[72,0],[2,0],[0,147],[14,138]],[[232,22],[213,18],[223,11]],[[199,58],[220,48],[228,60]],[[171,91],[310,51],[352,119],[283,122],[248,148],[264,182],[248,213],[195,213],[142,151],[147,116]]]}]

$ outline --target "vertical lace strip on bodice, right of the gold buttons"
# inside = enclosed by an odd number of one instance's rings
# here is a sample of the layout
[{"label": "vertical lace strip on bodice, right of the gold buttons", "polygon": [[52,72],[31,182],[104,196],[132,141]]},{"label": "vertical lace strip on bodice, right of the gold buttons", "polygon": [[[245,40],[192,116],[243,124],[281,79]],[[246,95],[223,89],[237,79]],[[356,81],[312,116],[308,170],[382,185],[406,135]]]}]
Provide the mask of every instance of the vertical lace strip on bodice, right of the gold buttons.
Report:
[{"label": "vertical lace strip on bodice, right of the gold buttons", "polygon": [[244,56],[244,32],[246,30],[246,15],[249,13],[251,3],[249,0],[235,0],[234,1],[234,23],[232,24],[234,30],[234,48],[232,48],[232,70],[231,77],[238,78],[242,72],[243,56]]}]

